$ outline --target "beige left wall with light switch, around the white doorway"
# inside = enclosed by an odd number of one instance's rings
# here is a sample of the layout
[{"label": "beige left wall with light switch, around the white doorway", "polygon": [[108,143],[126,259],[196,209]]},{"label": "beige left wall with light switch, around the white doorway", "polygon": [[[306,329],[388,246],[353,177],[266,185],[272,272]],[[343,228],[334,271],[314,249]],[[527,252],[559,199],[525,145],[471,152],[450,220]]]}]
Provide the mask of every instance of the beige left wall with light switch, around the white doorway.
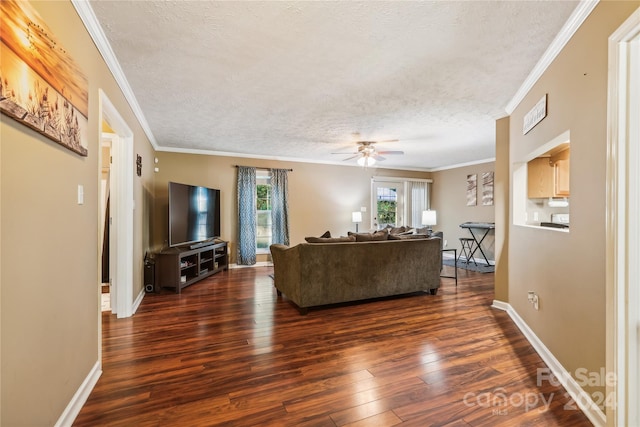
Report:
[{"label": "beige left wall with light switch, around the white doorway", "polygon": [[[88,76],[88,156],[2,116],[0,374],[3,426],[54,425],[99,360],[98,90],[134,132],[134,294],[142,289],[153,150],[70,2],[34,2]],[[134,167],[131,165],[131,167]],[[84,186],[84,204],[77,187]]]}]

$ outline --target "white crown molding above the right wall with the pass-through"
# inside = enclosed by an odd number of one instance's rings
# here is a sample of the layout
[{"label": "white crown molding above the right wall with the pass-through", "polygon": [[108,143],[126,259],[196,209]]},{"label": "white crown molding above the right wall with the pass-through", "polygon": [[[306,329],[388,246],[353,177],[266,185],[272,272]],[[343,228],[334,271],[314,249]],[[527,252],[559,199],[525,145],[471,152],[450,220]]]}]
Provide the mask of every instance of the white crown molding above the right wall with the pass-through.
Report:
[{"label": "white crown molding above the right wall with the pass-through", "polygon": [[569,40],[571,40],[571,37],[573,37],[576,31],[578,31],[578,28],[580,28],[599,2],[600,0],[580,1],[580,4],[576,6],[576,9],[573,11],[567,22],[565,22],[558,35],[553,39],[544,55],[542,55],[542,58],[540,58],[536,66],[533,67],[533,70],[531,70],[531,73],[529,73],[525,81],[522,83],[520,89],[518,89],[514,97],[505,107],[507,114],[511,115],[513,113],[527,93],[529,93],[533,85],[536,84],[549,65],[551,65],[553,60],[556,59],[560,51],[562,51]]}]

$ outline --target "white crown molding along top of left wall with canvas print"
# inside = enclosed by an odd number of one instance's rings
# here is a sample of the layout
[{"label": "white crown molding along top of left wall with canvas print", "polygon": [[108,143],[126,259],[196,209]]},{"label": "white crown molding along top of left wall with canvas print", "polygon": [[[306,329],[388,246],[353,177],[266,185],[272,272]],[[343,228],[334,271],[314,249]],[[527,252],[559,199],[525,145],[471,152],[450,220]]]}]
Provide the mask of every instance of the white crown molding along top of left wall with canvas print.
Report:
[{"label": "white crown molding along top of left wall with canvas print", "polygon": [[133,114],[138,119],[140,126],[142,126],[142,130],[147,135],[147,138],[151,142],[151,145],[153,145],[153,148],[157,150],[158,143],[156,142],[156,138],[153,135],[153,132],[151,132],[149,123],[147,122],[147,119],[145,118],[144,113],[140,108],[140,104],[138,104],[136,96],[133,94],[133,90],[131,90],[131,86],[129,86],[129,82],[127,81],[127,78],[125,77],[124,72],[120,67],[120,63],[116,59],[116,55],[113,52],[113,49],[111,49],[111,45],[109,44],[109,41],[107,40],[107,37],[105,36],[104,31],[102,30],[102,27],[98,22],[98,18],[96,18],[91,5],[89,4],[89,1],[71,0],[71,3],[80,16],[80,19],[87,29],[89,36],[91,36],[91,39],[102,55],[102,58],[107,64],[109,71],[111,71],[113,78],[116,80],[116,83],[120,87],[120,90],[129,103],[129,106],[133,110]]}]

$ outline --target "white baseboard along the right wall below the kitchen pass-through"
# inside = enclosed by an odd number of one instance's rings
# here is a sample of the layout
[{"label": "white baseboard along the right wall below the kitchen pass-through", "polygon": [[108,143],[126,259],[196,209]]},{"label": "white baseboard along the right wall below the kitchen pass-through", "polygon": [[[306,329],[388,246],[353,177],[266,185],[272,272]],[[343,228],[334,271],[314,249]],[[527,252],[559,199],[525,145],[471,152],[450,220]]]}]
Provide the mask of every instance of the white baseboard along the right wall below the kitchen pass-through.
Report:
[{"label": "white baseboard along the right wall below the kitchen pass-through", "polygon": [[576,382],[573,376],[567,371],[564,366],[556,359],[556,357],[549,351],[547,346],[538,338],[538,336],[529,328],[529,325],[518,315],[513,309],[511,304],[493,300],[491,307],[506,311],[511,317],[511,320],[516,324],[518,329],[527,338],[527,341],[533,346],[536,352],[540,355],[544,363],[547,364],[551,372],[556,376],[558,381],[567,390],[569,396],[573,399],[573,402],[580,410],[589,418],[589,421],[596,427],[605,427],[607,424],[607,417],[593,401],[591,395],[584,391],[584,389]]}]

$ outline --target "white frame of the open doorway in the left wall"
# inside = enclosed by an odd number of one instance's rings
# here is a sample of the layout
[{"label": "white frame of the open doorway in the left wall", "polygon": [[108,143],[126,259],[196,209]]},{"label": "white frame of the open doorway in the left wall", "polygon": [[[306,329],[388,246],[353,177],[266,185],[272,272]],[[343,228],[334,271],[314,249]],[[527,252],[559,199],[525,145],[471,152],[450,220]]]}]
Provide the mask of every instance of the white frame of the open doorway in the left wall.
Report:
[{"label": "white frame of the open doorway in the left wall", "polygon": [[[115,300],[112,302],[114,312],[118,318],[123,318],[133,314],[133,132],[101,89],[99,120],[101,138],[104,134],[112,134],[110,213],[111,233],[114,233],[111,241],[114,244],[110,245],[110,265],[113,266],[111,290],[115,294]],[[111,129],[103,129],[104,123]],[[98,162],[99,165],[102,164],[101,160]],[[98,168],[99,179],[100,169]],[[102,241],[102,236],[99,241]],[[101,257],[99,267],[98,270],[101,271]],[[101,331],[102,322],[99,324]]]}]

